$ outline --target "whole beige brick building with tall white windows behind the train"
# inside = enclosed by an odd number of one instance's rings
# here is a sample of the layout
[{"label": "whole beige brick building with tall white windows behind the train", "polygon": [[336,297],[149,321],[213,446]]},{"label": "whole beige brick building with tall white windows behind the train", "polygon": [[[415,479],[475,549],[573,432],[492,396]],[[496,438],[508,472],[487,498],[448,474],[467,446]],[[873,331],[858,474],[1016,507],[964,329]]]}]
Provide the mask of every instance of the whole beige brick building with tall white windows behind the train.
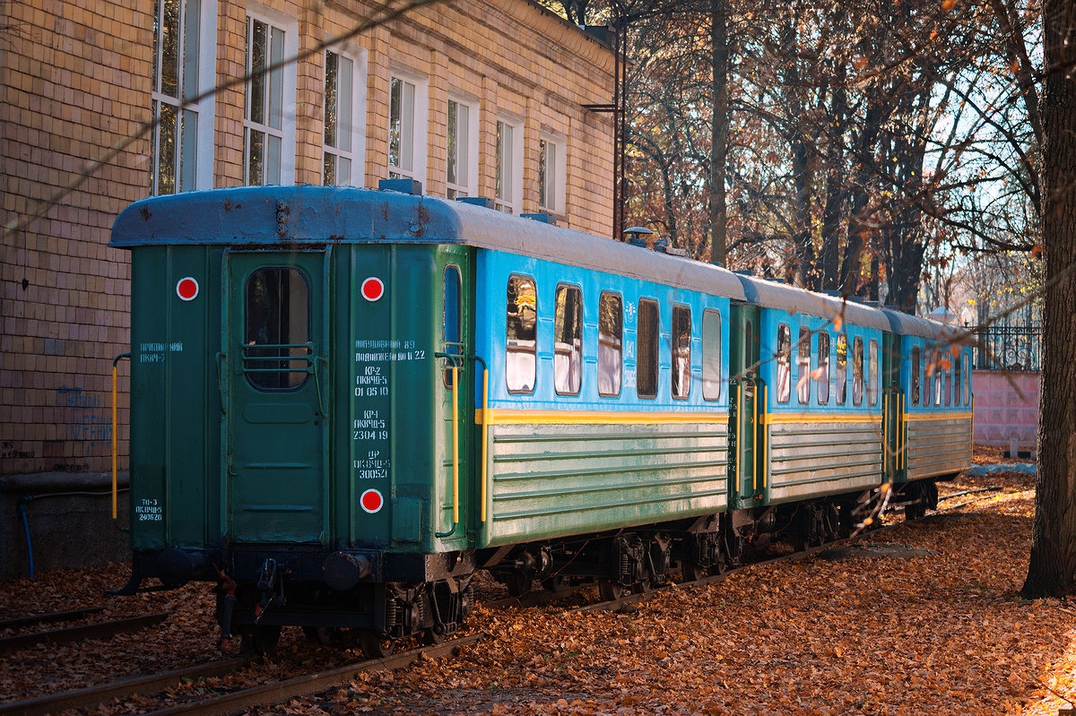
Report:
[{"label": "whole beige brick building with tall white windows behind the train", "polygon": [[96,559],[83,513],[107,502],[67,493],[111,482],[129,266],[107,244],[131,201],[410,177],[611,232],[613,126],[586,109],[610,101],[606,45],[528,0],[374,4],[0,0],[0,577],[26,571],[28,513],[39,569]]}]

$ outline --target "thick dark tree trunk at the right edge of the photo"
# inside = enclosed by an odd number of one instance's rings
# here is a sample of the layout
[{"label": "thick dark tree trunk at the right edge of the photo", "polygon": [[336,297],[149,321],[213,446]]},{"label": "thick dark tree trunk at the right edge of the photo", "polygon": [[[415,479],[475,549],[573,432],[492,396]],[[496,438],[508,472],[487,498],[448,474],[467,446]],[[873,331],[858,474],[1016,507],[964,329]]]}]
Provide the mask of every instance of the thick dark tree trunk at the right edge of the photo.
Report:
[{"label": "thick dark tree trunk at the right edge of the photo", "polygon": [[1044,0],[1043,397],[1029,599],[1076,592],[1076,0]]}]

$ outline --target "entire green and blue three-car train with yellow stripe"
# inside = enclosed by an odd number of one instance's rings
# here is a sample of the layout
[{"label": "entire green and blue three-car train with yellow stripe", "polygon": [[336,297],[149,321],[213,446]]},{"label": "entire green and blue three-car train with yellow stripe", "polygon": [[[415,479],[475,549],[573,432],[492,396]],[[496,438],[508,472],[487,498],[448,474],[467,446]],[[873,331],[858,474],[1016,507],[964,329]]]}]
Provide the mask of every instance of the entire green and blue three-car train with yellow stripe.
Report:
[{"label": "entire green and blue three-car train with yellow stripe", "polygon": [[130,545],[224,639],[436,642],[476,570],[604,595],[909,515],[972,457],[935,323],[394,191],[217,189],[116,220]]}]

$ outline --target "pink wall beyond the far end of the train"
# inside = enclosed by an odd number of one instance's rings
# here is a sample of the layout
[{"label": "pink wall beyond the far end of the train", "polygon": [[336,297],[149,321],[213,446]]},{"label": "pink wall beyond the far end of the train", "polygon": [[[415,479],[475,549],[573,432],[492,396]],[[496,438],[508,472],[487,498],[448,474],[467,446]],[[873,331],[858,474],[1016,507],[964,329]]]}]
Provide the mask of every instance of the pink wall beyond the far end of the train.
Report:
[{"label": "pink wall beyond the far end of the train", "polygon": [[977,445],[1034,450],[1038,431],[1038,372],[975,371],[975,442]]}]

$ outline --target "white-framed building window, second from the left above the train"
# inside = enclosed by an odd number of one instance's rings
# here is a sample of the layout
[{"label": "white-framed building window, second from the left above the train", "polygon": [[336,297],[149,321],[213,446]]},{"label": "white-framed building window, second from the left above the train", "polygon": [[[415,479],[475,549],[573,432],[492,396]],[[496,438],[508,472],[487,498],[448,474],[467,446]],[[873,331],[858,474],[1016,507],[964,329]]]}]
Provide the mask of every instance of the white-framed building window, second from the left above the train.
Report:
[{"label": "white-framed building window, second from the left above the train", "polygon": [[[269,27],[269,54],[266,67],[295,57],[298,54],[299,24],[294,17],[277,12],[264,5],[251,2],[246,10],[247,37],[254,23],[263,23]],[[273,30],[282,33],[279,43],[273,45]],[[247,41],[249,44],[249,41]],[[287,185],[295,183],[295,98],[296,70],[295,62],[288,62],[266,77],[265,101],[260,110],[266,121],[252,118],[252,56],[250,46],[245,52],[246,68],[246,101],[243,111],[243,184],[251,185],[252,139],[254,132],[263,133],[266,143],[263,147],[261,177],[257,184]],[[278,146],[273,148],[273,144]]]}]

